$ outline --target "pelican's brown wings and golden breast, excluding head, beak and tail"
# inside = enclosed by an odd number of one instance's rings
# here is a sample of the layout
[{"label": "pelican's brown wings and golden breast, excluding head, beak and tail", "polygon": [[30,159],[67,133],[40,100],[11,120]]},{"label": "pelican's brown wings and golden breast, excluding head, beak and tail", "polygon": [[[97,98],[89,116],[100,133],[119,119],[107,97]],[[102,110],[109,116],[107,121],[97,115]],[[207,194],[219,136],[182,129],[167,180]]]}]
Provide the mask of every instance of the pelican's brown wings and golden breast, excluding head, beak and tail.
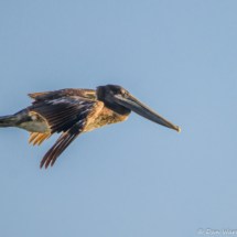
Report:
[{"label": "pelican's brown wings and golden breast, excluding head, beak and tail", "polygon": [[30,94],[34,99],[32,106],[28,107],[31,116],[39,115],[43,118],[50,133],[34,132],[29,143],[40,146],[53,133],[62,132],[55,144],[44,155],[41,168],[54,164],[57,157],[77,138],[79,133],[93,129],[123,121],[130,111],[125,115],[112,111],[97,100],[96,91],[90,89],[64,89],[50,93]]}]

